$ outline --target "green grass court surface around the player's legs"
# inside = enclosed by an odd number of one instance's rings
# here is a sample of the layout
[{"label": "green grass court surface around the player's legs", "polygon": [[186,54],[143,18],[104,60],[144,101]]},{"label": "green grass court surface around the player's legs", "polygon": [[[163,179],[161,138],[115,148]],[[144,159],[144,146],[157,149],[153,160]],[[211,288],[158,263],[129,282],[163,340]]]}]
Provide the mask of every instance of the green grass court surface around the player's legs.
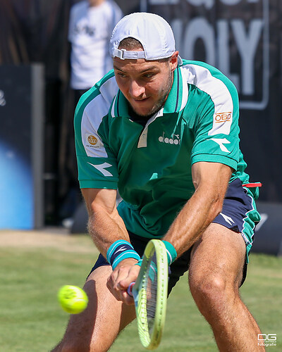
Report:
[{"label": "green grass court surface around the player's legs", "polygon": [[[66,236],[66,243],[69,240],[72,247],[67,251],[60,246],[0,247],[1,352],[50,351],[61,339],[68,314],[59,308],[56,293],[62,284],[81,287],[97,258],[97,251],[85,235]],[[80,251],[75,253],[78,244]],[[81,251],[83,246],[88,250]],[[243,301],[262,331],[277,334],[277,346],[269,347],[269,351],[282,351],[281,268],[282,258],[252,254],[247,281],[241,289]],[[158,351],[217,351],[212,332],[192,301],[187,281],[185,275],[168,298],[166,327]],[[111,352],[130,351],[145,351],[135,322],[111,348]]]}]

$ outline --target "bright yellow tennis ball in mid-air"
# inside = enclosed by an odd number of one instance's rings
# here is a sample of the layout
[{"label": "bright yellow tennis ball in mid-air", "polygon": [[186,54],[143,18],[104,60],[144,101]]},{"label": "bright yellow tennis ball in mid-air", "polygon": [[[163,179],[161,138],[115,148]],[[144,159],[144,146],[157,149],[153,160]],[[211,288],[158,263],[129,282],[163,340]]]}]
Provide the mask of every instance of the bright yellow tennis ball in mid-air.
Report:
[{"label": "bright yellow tennis ball in mid-air", "polygon": [[59,289],[58,299],[61,308],[71,314],[81,313],[88,304],[88,297],[85,291],[77,286],[65,285]]}]

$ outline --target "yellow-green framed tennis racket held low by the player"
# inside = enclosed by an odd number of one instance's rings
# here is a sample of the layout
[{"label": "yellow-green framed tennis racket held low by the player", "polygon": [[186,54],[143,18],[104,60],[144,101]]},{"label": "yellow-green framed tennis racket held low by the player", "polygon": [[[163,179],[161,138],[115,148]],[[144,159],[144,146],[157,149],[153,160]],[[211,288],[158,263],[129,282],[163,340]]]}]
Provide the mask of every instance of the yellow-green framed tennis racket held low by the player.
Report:
[{"label": "yellow-green framed tennis racket held low by the player", "polygon": [[137,328],[142,345],[148,350],[159,346],[166,320],[168,260],[166,246],[159,239],[147,243],[136,282],[128,287],[133,296]]}]

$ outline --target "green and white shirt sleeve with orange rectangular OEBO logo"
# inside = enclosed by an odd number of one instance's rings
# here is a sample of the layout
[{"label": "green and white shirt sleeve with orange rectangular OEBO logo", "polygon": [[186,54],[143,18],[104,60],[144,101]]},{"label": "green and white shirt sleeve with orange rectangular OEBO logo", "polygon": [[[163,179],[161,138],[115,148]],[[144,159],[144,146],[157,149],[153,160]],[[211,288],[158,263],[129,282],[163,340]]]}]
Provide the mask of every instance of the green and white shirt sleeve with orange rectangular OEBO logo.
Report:
[{"label": "green and white shirt sleeve with orange rectangular OEBO logo", "polygon": [[[227,84],[226,84],[227,82]],[[237,169],[239,149],[238,94],[230,81],[214,80],[195,124],[191,162],[223,163]]]}]

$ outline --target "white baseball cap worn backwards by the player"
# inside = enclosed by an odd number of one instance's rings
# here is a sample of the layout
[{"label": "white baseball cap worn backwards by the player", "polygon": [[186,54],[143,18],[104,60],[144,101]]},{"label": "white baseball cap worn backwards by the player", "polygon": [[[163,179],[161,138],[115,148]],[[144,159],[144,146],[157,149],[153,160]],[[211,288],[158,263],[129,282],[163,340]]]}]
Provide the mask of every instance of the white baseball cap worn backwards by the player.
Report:
[{"label": "white baseball cap worn backwards by the player", "polygon": [[[118,49],[121,41],[128,37],[139,40],[144,51]],[[126,15],[118,22],[111,36],[109,51],[111,57],[122,60],[159,60],[171,57],[176,51],[176,43],[171,26],[164,18],[154,13],[137,12]],[[178,56],[178,65],[181,64],[182,60]]]}]

